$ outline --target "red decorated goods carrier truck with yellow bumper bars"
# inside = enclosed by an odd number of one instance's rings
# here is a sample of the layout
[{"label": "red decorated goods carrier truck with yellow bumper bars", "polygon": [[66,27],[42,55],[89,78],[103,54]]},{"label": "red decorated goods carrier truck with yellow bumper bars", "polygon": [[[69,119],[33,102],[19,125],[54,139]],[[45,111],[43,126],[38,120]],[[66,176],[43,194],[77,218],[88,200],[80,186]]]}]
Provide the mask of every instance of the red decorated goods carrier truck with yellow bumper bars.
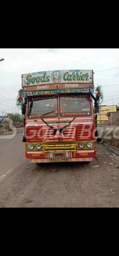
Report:
[{"label": "red decorated goods carrier truck with yellow bumper bars", "polygon": [[22,75],[18,104],[22,105],[25,157],[30,163],[90,163],[96,154],[98,112],[93,93],[92,70]]}]

